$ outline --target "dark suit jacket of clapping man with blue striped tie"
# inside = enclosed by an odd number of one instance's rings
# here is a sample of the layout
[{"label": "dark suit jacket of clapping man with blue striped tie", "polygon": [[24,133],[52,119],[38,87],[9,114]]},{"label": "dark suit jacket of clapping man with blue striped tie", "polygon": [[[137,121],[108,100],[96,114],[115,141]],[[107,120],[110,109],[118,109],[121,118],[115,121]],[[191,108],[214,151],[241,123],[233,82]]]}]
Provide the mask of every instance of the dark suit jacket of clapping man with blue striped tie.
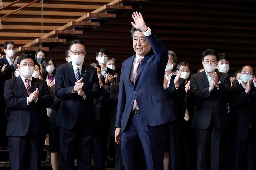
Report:
[{"label": "dark suit jacket of clapping man with blue striped tie", "polygon": [[76,124],[78,114],[84,123],[90,123],[92,120],[93,99],[100,97],[97,70],[83,63],[81,77],[83,77],[86,100],[77,93],[71,93],[76,82],[72,62],[65,63],[56,70],[55,95],[62,99],[57,125],[62,128],[72,129]]}]

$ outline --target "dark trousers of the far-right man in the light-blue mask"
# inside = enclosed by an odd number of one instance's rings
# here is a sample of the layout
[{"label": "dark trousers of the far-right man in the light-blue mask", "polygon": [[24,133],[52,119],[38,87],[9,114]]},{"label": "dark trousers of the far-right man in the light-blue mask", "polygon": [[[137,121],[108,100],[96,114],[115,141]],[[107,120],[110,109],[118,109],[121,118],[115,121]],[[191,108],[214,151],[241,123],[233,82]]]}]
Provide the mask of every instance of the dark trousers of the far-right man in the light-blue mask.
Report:
[{"label": "dark trousers of the far-right man in the light-blue mask", "polygon": [[256,169],[256,142],[255,128],[252,126],[245,141],[232,141],[232,170],[255,170]]}]

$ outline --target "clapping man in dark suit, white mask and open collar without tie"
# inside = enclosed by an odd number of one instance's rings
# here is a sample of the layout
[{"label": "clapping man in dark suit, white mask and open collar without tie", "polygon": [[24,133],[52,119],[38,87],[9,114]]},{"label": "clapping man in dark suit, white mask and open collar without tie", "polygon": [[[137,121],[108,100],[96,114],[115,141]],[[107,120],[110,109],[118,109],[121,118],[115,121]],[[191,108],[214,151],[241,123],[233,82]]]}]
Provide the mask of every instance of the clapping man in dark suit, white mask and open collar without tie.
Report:
[{"label": "clapping man in dark suit, white mask and open collar without tie", "polygon": [[227,99],[232,94],[227,73],[215,72],[219,55],[202,53],[204,71],[191,76],[190,94],[196,100],[192,128],[196,129],[197,170],[220,169],[223,131],[230,126]]}]

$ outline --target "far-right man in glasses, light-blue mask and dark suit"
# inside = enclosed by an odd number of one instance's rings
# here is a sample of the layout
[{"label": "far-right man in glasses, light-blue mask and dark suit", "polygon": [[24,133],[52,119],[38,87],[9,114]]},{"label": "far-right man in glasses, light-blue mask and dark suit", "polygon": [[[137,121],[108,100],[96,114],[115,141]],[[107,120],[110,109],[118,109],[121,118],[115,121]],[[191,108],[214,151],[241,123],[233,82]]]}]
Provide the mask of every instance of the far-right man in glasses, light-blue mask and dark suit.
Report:
[{"label": "far-right man in glasses, light-blue mask and dark suit", "polygon": [[232,144],[229,145],[231,147],[229,158],[232,159],[230,169],[232,170],[256,169],[256,87],[253,83],[254,74],[255,70],[252,66],[242,67],[242,82],[233,86],[233,97],[230,100]]}]

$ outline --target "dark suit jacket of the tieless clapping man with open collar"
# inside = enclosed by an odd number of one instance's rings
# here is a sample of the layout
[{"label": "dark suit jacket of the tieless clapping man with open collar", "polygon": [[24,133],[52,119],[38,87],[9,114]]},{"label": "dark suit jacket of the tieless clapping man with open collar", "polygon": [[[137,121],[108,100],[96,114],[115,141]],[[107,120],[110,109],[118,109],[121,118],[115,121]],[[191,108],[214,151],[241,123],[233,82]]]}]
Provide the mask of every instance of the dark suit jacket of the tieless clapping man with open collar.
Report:
[{"label": "dark suit jacket of the tieless clapping man with open collar", "polygon": [[230,126],[228,119],[227,100],[232,95],[230,77],[226,73],[218,73],[220,88],[210,93],[209,83],[205,71],[191,76],[190,94],[196,100],[196,108],[192,122],[194,129],[207,129],[210,125],[212,114],[213,122],[218,129]]}]

